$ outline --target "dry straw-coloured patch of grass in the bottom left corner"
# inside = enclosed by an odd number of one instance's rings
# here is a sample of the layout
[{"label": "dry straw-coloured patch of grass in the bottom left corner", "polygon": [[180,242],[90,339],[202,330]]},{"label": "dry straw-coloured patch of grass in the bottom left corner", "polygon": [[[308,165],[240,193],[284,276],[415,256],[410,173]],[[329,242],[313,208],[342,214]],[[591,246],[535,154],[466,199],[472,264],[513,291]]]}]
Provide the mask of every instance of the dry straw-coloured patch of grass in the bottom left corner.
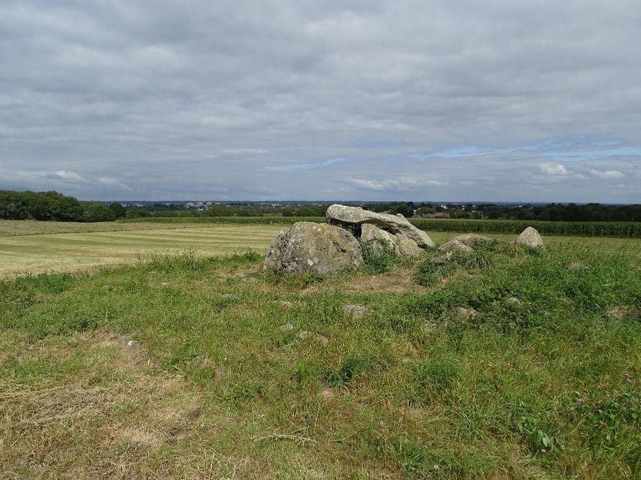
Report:
[{"label": "dry straw-coloured patch of grass in the bottom left corner", "polygon": [[[170,478],[185,461],[172,448],[198,432],[202,397],[180,377],[156,369],[127,337],[74,335],[32,344],[14,341],[0,357],[16,363],[76,364],[63,378],[1,381],[0,477]],[[22,351],[21,351],[22,350]],[[52,368],[55,371],[55,368]],[[161,464],[171,464],[158,470]],[[191,478],[206,478],[192,472]],[[196,475],[198,473],[198,475]]]}]

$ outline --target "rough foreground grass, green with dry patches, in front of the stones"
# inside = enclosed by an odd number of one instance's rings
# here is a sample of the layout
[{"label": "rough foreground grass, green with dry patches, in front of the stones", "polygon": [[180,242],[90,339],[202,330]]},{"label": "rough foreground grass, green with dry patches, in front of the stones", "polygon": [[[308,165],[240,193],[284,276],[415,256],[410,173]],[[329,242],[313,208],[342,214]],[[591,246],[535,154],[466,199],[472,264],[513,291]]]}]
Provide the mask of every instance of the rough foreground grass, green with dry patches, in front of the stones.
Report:
[{"label": "rough foreground grass, green with dry patches, in front of the stones", "polygon": [[327,278],[251,253],[6,280],[0,471],[641,476],[639,256],[435,254]]}]

